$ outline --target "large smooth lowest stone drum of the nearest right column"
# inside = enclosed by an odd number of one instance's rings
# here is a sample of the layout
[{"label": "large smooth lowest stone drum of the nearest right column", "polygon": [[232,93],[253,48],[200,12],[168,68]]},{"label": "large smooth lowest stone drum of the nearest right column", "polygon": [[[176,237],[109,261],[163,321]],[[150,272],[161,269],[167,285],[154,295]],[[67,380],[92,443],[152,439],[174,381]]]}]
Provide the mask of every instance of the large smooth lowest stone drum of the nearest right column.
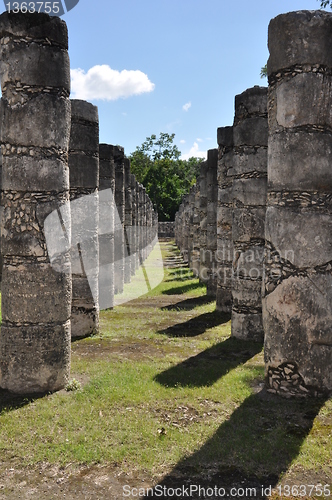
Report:
[{"label": "large smooth lowest stone drum of the nearest right column", "polygon": [[292,360],[305,384],[320,389],[332,383],[331,289],[331,274],[294,276],[263,301],[267,365]]}]

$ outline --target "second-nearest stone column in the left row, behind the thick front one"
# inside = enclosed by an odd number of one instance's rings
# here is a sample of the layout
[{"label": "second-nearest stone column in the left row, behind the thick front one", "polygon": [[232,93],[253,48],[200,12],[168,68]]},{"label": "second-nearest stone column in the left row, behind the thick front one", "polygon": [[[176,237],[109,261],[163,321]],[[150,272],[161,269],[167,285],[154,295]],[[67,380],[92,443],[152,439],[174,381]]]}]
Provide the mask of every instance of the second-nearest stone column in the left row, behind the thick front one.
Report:
[{"label": "second-nearest stone column in the left row, behind the thick front one", "polygon": [[78,338],[99,330],[99,119],[98,108],[86,101],[71,101],[68,164],[72,218],[71,337]]}]

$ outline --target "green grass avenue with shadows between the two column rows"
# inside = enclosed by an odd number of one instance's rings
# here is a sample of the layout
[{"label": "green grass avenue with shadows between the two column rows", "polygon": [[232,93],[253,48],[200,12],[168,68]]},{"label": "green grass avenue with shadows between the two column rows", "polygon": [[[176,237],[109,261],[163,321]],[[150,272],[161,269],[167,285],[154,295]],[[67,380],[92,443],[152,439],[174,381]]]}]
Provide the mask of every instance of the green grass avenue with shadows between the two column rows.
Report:
[{"label": "green grass avenue with shadows between the two column rows", "polygon": [[100,323],[98,337],[72,345],[77,390],[2,395],[4,463],[112,464],[166,479],[236,469],[275,484],[332,477],[332,401],[262,391],[262,346],[230,338],[229,318],[188,269],[166,268],[156,289]]}]

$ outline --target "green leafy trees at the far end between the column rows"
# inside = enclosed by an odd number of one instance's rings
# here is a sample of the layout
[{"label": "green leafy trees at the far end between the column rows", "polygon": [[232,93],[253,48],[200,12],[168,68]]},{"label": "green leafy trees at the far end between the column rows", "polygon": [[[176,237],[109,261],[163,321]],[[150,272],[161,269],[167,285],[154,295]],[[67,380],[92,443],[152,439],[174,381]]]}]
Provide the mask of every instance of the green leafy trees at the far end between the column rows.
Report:
[{"label": "green leafy trees at the far end between the column rows", "polygon": [[199,175],[199,158],[181,160],[174,144],[175,134],[161,132],[147,137],[130,155],[131,171],[141,182],[157,208],[160,221],[172,221],[181,203]]}]

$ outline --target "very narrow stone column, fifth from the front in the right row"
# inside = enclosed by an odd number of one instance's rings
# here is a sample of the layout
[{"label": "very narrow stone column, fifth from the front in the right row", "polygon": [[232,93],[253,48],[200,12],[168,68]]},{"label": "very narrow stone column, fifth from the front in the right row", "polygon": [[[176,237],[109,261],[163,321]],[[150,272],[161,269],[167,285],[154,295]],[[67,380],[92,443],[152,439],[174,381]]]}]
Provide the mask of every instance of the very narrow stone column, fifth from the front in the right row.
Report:
[{"label": "very narrow stone column, fifth from the front in the right row", "polygon": [[206,283],[209,277],[207,267],[207,162],[201,163],[200,170],[200,225],[199,225],[199,279]]}]

